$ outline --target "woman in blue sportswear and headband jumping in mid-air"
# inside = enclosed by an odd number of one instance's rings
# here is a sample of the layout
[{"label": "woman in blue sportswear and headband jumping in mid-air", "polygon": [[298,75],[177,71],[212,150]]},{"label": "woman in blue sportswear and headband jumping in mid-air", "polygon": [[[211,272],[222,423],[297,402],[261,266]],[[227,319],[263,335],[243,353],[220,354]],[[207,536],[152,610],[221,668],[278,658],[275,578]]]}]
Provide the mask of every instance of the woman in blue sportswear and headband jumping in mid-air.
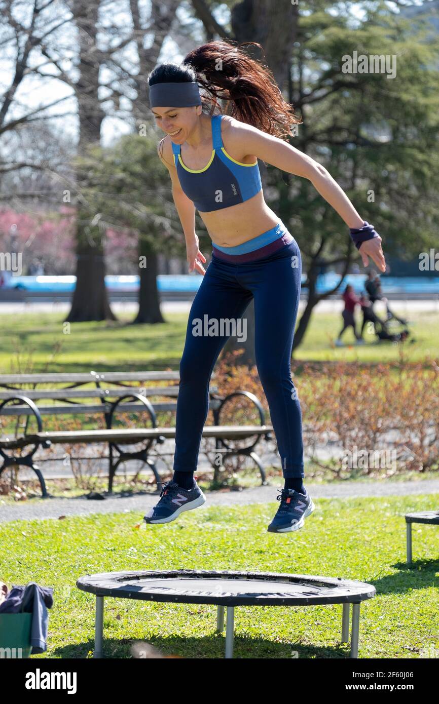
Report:
[{"label": "woman in blue sportswear and headband jumping in mid-air", "polygon": [[[294,237],[264,201],[257,159],[309,179],[346,225],[357,228],[351,234],[365,266],[371,256],[385,269],[381,237],[323,166],[284,141],[299,120],[259,61],[229,42],[209,42],[191,51],[182,65],[159,65],[148,83],[152,113],[166,132],[158,153],[171,176],[189,271],[204,278],[180,363],[173,479],[144,520],[168,523],[206,501],[193,474],[209,411],[209,379],[230,332],[223,327],[223,334],[199,335],[197,322],[207,316],[221,331],[221,321],[239,320],[254,298],[256,366],[285,479],[268,531],[295,531],[314,510],[303,485],[302,415],[290,370],[302,261]],[[209,98],[200,97],[198,84]],[[230,115],[211,116],[218,97],[228,101]],[[207,270],[195,234],[195,208],[213,243]]]}]

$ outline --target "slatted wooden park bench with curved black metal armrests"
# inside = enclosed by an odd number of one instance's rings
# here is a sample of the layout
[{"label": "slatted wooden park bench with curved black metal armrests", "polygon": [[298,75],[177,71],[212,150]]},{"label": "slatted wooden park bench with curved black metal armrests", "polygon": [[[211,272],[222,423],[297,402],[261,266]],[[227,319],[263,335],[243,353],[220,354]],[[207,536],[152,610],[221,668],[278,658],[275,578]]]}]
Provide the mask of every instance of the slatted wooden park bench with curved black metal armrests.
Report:
[{"label": "slatted wooden park bench with curved black metal armrests", "polygon": [[[0,456],[3,465],[0,477],[7,467],[30,467],[39,480],[42,496],[48,496],[44,476],[35,462],[34,455],[41,448],[58,444],[100,444],[109,446],[109,486],[113,489],[113,479],[118,465],[126,460],[142,460],[153,472],[156,484],[161,482],[152,448],[163,444],[166,439],[175,439],[175,427],[158,427],[157,413],[175,412],[177,408],[178,383],[169,386],[147,386],[152,382],[179,382],[179,372],[85,372],[61,374],[0,375],[0,417],[13,417],[15,427],[11,432],[3,432],[0,437]],[[92,382],[93,388],[87,387]],[[32,389],[25,388],[32,384]],[[52,388],[39,388],[38,384]],[[54,384],[63,384],[53,388]],[[133,385],[137,384],[137,386]],[[140,386],[139,386],[140,384]],[[114,388],[117,386],[117,388]],[[215,472],[222,458],[247,455],[259,468],[261,482],[266,482],[264,467],[254,447],[261,438],[272,439],[273,428],[265,424],[264,409],[258,398],[249,391],[234,391],[228,396],[216,394],[216,387],[209,389],[209,410],[214,415],[214,425],[205,426],[202,436],[214,441],[215,462],[211,461]],[[171,401],[152,402],[152,397],[171,398]],[[223,422],[228,404],[237,397],[252,406],[257,420],[252,425],[230,425]],[[44,401],[44,403],[40,403]],[[55,403],[47,403],[47,402]],[[38,402],[38,405],[37,405]],[[114,427],[123,422],[123,414],[145,413],[141,427]],[[80,429],[50,431],[43,429],[42,418],[54,415],[90,415],[104,419],[104,429]],[[24,422],[20,425],[20,419]],[[30,429],[30,421],[36,421],[37,428]],[[149,426],[149,427],[147,427]],[[242,446],[241,441],[244,442]],[[134,449],[129,446],[141,444]],[[232,443],[232,444],[230,444]],[[233,444],[235,443],[235,445]],[[27,453],[22,453],[31,446]],[[19,454],[12,452],[20,451]],[[209,455],[204,452],[208,457]],[[159,453],[160,456],[160,453]]]}]

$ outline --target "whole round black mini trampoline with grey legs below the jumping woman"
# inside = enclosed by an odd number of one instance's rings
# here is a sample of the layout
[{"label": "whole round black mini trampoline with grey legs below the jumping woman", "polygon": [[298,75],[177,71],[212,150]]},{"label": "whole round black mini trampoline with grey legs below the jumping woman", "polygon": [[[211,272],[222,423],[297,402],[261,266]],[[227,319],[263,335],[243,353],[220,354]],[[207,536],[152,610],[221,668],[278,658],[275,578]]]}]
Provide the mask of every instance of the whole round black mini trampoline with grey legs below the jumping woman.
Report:
[{"label": "whole round black mini trampoline with grey legs below the jumping woman", "polygon": [[104,598],[213,604],[216,630],[224,630],[227,608],[225,658],[233,658],[235,606],[312,606],[342,604],[341,642],[349,641],[350,605],[352,631],[350,657],[358,658],[360,604],[376,595],[372,584],[341,577],[314,577],[278,572],[224,572],[216,570],[149,570],[87,574],[78,589],[96,596],[94,658],[102,658]]}]

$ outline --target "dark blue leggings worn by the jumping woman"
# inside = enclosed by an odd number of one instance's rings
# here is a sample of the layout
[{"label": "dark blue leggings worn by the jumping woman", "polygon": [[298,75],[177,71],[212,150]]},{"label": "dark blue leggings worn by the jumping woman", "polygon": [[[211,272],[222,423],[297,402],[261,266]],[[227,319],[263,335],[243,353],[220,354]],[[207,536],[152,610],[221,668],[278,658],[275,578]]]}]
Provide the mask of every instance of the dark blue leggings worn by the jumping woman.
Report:
[{"label": "dark blue leggings worn by the jumping woman", "polygon": [[[293,265],[294,263],[294,265]],[[175,419],[175,472],[197,470],[209,413],[209,382],[230,337],[194,336],[194,319],[241,318],[254,297],[256,367],[268,401],[285,478],[304,477],[302,412],[291,379],[291,350],[299,306],[302,258],[293,239],[270,256],[231,263],[213,253],[187,321]],[[221,334],[227,329],[218,329]]]}]

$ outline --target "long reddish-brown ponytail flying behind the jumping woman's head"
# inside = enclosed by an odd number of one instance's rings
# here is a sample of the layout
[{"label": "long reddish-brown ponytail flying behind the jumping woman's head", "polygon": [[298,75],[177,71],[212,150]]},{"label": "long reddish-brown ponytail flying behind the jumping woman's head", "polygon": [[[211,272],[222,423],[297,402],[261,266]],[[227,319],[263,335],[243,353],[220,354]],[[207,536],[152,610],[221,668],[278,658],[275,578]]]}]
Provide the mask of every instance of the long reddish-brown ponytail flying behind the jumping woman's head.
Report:
[{"label": "long reddish-brown ponytail flying behind the jumping woman's head", "polygon": [[200,87],[209,94],[203,96],[203,102],[210,107],[211,114],[216,108],[222,112],[218,104],[221,99],[228,103],[226,114],[236,120],[280,139],[294,136],[292,125],[301,124],[302,120],[283,99],[270,68],[241,51],[244,44],[264,51],[257,42],[237,44],[218,40],[190,51],[182,64],[193,68]]}]

